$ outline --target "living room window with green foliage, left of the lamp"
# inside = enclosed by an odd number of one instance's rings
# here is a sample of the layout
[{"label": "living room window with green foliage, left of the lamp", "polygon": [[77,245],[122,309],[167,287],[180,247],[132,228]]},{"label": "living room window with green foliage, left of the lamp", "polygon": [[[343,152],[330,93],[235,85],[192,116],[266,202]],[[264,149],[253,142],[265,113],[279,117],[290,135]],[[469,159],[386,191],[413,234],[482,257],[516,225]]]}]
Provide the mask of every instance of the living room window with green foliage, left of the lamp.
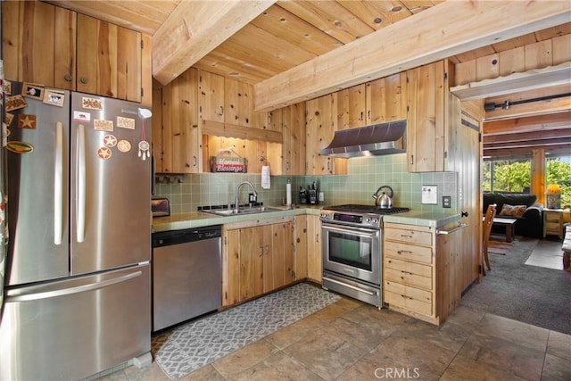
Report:
[{"label": "living room window with green foliage, left of the lamp", "polygon": [[484,162],[482,189],[484,192],[529,193],[530,159],[490,160]]}]

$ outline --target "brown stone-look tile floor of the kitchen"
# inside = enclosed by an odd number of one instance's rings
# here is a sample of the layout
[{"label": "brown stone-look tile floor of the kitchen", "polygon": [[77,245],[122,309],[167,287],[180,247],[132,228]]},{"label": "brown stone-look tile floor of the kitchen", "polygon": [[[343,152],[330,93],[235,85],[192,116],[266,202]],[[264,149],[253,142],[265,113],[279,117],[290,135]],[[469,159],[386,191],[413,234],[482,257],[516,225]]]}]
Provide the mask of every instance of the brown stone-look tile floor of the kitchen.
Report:
[{"label": "brown stone-look tile floor of the kitchen", "polygon": [[[182,380],[569,380],[571,335],[460,306],[442,327],[345,298]],[[168,380],[156,362],[100,380]]]}]

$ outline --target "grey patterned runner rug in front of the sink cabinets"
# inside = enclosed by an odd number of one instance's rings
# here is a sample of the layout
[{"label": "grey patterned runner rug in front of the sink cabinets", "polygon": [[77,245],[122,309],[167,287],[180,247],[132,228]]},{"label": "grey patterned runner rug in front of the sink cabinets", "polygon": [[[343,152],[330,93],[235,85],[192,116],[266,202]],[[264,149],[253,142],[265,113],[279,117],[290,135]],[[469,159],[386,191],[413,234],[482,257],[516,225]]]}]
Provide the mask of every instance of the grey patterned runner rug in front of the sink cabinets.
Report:
[{"label": "grey patterned runner rug in front of the sink cabinets", "polygon": [[170,378],[185,377],[340,299],[317,286],[291,286],[175,328],[155,360]]}]

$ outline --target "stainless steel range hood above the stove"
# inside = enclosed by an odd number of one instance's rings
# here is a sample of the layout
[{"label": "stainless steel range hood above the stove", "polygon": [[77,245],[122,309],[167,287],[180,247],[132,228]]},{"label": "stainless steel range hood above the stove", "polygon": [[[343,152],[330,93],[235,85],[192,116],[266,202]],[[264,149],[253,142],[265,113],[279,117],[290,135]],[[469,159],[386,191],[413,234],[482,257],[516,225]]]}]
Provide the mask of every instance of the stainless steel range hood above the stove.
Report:
[{"label": "stainless steel range hood above the stove", "polygon": [[361,128],[335,131],[335,136],[322,155],[335,157],[381,156],[405,153],[397,144],[407,127],[407,120],[394,120]]}]

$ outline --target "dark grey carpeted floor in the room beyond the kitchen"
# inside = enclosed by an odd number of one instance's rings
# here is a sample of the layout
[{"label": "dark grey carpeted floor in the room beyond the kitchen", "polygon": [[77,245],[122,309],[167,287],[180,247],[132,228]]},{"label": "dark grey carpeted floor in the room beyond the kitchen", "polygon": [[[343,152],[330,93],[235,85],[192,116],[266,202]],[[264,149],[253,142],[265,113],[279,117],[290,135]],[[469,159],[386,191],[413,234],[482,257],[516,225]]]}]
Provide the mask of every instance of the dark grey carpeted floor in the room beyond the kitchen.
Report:
[{"label": "dark grey carpeted floor in the room beyond the kitchen", "polygon": [[537,239],[517,237],[492,270],[468,288],[461,304],[571,335],[571,272],[525,265]]}]

